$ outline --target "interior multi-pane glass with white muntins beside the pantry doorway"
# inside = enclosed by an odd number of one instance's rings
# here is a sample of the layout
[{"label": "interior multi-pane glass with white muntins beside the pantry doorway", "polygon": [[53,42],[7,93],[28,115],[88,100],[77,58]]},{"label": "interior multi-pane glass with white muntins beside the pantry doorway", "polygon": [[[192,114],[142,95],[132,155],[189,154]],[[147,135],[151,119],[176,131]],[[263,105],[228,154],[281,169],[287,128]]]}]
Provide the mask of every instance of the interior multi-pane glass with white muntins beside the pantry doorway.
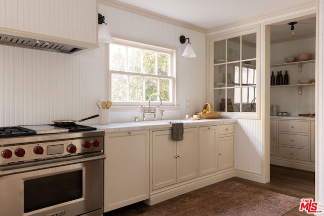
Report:
[{"label": "interior multi-pane glass with white muntins beside the pantry doorway", "polygon": [[210,85],[214,110],[256,113],[259,71],[257,31],[210,38]]}]

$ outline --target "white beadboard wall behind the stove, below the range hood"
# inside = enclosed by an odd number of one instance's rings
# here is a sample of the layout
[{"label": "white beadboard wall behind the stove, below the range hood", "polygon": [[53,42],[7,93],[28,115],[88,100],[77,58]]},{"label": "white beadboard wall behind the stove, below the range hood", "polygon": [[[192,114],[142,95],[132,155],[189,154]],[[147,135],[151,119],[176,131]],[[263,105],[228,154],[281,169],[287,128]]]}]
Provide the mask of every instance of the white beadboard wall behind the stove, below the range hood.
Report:
[{"label": "white beadboard wall behind the stove, below the range hood", "polygon": [[97,114],[95,101],[105,98],[104,54],[104,48],[66,55],[1,45],[0,126]]}]

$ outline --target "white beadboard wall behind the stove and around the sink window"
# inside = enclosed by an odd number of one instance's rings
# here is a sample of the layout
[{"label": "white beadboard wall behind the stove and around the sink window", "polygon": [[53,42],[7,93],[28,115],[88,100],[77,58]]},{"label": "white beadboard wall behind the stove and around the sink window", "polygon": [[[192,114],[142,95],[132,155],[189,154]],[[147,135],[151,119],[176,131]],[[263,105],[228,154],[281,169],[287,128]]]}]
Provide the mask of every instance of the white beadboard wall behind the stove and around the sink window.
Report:
[{"label": "white beadboard wall behind the stove and around the sink window", "polygon": [[[205,34],[135,15],[105,5],[98,7],[115,37],[123,37],[178,50],[178,107],[164,117],[183,118],[200,111],[206,102]],[[190,38],[197,55],[181,57]],[[55,119],[81,119],[98,113],[97,100],[105,100],[105,46],[78,55],[0,45],[0,126],[46,124]],[[190,100],[190,108],[185,101]],[[145,105],[145,104],[144,104]],[[113,109],[112,122],[133,121],[137,111]],[[98,118],[86,123],[98,123]]]}]

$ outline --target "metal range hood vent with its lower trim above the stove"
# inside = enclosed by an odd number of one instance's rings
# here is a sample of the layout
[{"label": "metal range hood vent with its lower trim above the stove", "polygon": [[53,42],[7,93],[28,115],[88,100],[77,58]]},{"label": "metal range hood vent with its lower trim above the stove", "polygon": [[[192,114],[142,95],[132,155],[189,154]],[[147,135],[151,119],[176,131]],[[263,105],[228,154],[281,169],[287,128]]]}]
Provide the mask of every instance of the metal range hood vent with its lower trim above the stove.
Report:
[{"label": "metal range hood vent with its lower trim above the stove", "polygon": [[90,44],[83,41],[75,41],[5,28],[0,28],[0,45],[9,45],[66,54],[75,54],[87,49],[99,47],[96,44]]}]

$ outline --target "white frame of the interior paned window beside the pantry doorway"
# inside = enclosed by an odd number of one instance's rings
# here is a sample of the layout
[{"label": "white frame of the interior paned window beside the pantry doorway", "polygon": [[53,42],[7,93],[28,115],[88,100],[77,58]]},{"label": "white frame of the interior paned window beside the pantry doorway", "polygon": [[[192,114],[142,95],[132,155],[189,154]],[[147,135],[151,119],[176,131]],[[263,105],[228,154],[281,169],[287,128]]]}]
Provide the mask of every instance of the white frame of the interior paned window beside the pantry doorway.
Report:
[{"label": "white frame of the interior paned window beside the pantry doorway", "polygon": [[[214,104],[214,42],[215,41],[220,41],[220,40],[224,40],[224,39],[229,39],[229,38],[233,38],[233,37],[237,37],[237,36],[241,36],[241,35],[247,35],[247,34],[251,34],[251,33],[256,33],[256,71],[257,71],[257,78],[256,78],[256,84],[255,85],[251,85],[250,87],[255,87],[255,95],[257,97],[257,99],[255,100],[256,103],[256,112],[222,112],[222,116],[224,117],[228,117],[228,118],[244,118],[244,119],[260,119],[260,80],[261,80],[261,74],[263,73],[260,68],[260,56],[261,56],[261,48],[260,48],[260,25],[254,25],[254,26],[250,26],[247,28],[242,28],[242,29],[237,29],[237,30],[233,30],[233,31],[228,31],[228,32],[224,32],[221,34],[217,34],[217,35],[209,35],[207,37],[208,40],[208,53],[210,54],[209,56],[209,80],[207,82],[207,98],[209,99],[209,101],[213,102]],[[226,56],[227,56],[227,51],[226,51]],[[244,61],[247,61],[249,59],[246,59]],[[252,60],[252,59],[251,59]],[[231,63],[235,63],[236,61],[233,62],[228,62],[229,64]],[[242,68],[242,62],[241,61],[237,61],[237,63],[240,64],[240,68]],[[240,77],[241,79],[241,77]],[[242,88],[247,88],[247,87],[242,87],[240,86],[238,89],[240,89],[240,91],[242,91]],[[219,88],[219,89],[234,89],[234,87],[223,87],[223,88]],[[240,106],[242,106],[242,101],[240,102]],[[216,109],[215,109],[216,110]]]}]

